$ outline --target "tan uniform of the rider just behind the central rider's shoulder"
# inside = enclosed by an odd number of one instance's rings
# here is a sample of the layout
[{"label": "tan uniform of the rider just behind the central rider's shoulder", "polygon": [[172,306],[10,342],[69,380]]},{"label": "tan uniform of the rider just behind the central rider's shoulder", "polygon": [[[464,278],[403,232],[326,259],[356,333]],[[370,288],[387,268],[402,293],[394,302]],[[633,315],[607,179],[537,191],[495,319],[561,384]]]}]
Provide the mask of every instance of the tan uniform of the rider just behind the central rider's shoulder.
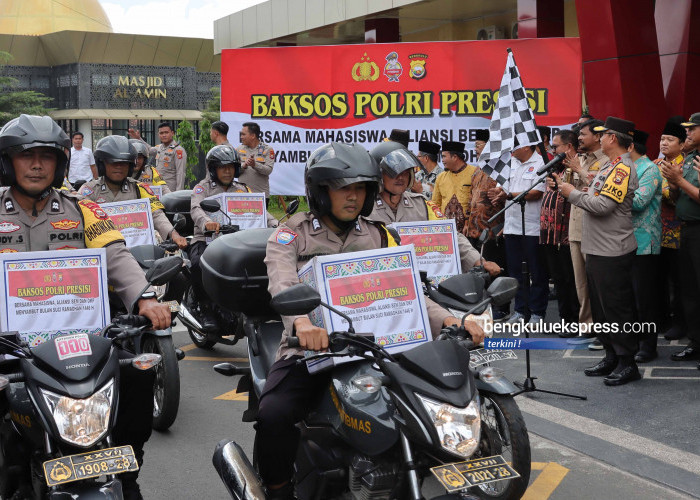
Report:
[{"label": "tan uniform of the rider just behind the central rider's shoulder", "polygon": [[[427,201],[419,193],[406,191],[401,195],[401,201],[399,201],[395,213],[381,197],[377,196],[374,208],[368,219],[379,221],[384,224],[393,224],[394,222],[444,220],[445,216],[440,211],[440,208],[432,201]],[[457,233],[457,244],[459,245],[462,271],[471,269],[474,267],[474,263],[479,260],[479,252],[460,232]]]}]

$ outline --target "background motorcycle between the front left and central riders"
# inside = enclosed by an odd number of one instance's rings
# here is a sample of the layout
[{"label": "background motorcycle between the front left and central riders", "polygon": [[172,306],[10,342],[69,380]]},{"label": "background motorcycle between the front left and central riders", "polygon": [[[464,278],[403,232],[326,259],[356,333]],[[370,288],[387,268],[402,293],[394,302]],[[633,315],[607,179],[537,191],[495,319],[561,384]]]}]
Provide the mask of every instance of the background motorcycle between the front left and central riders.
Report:
[{"label": "background motorcycle between the front left and central riders", "polygon": [[[202,280],[204,283],[209,282],[205,276],[209,276],[212,273],[212,269],[209,265],[209,261],[214,259],[219,259],[219,254],[224,253],[229,256],[235,256],[240,252],[244,252],[249,241],[246,236],[240,236],[235,240],[229,240],[231,234],[243,235],[249,233],[250,231],[265,231],[269,237],[272,234],[272,229],[248,229],[246,231],[239,231],[239,227],[234,224],[230,224],[231,219],[226,215],[224,211],[221,210],[221,206],[216,200],[203,200],[200,206],[205,212],[208,213],[222,213],[229,220],[229,224],[222,224],[219,231],[205,231],[204,236],[207,239],[207,249],[202,254],[200,259],[200,267],[202,269]],[[280,222],[283,222],[286,218],[294,214],[299,208],[299,200],[292,200],[285,210],[285,216]],[[256,237],[253,237],[255,240]],[[229,241],[234,241],[233,247],[229,246]],[[265,264],[260,261],[263,266],[263,271]],[[256,270],[257,271],[257,270]],[[208,287],[207,287],[208,288]],[[207,293],[209,294],[208,290]],[[211,298],[211,294],[209,294]],[[216,302],[212,302],[210,307],[212,312],[217,319],[218,328],[215,331],[205,331],[202,328],[199,320],[197,319],[199,310],[199,303],[194,296],[194,291],[192,286],[188,286],[182,299],[182,304],[180,307],[180,319],[183,324],[187,327],[187,333],[192,339],[192,342],[201,349],[212,349],[214,345],[225,344],[225,345],[235,345],[243,337],[242,322],[239,315],[232,313],[226,308],[219,307]],[[231,338],[228,338],[231,337]]]}]

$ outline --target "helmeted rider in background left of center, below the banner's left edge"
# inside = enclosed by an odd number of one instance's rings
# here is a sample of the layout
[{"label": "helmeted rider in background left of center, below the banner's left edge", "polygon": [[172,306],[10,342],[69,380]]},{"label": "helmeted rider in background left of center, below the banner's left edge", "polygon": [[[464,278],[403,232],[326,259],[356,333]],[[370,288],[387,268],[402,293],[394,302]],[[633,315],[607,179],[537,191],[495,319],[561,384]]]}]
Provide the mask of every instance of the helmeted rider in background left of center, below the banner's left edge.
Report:
[{"label": "helmeted rider in background left of center, below the banner's left edge", "polygon": [[[217,328],[210,300],[202,287],[202,271],[199,260],[207,248],[205,231],[218,233],[221,224],[211,219],[200,203],[205,198],[221,193],[250,193],[248,186],[235,179],[241,171],[241,160],[236,150],[229,144],[220,144],[209,150],[206,157],[207,177],[205,177],[192,190],[190,202],[190,216],[194,222],[194,236],[189,247],[190,274],[192,290],[196,301],[199,303],[199,316],[202,329],[215,330]],[[269,213],[267,216],[268,227],[276,227],[277,220]]]}]

